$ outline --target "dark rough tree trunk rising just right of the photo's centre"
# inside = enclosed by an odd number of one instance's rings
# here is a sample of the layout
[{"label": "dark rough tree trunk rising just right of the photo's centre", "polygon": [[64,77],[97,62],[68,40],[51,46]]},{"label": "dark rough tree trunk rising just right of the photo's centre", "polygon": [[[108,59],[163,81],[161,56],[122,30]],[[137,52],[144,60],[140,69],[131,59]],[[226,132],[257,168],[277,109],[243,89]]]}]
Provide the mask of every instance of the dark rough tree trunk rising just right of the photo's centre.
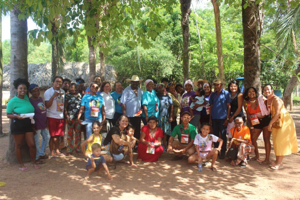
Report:
[{"label": "dark rough tree trunk rising just right of the photo's centre", "polygon": [[189,14],[191,13],[191,0],[180,0],[181,9],[181,28],[183,36],[183,50],[182,50],[182,70],[183,81],[189,79]]}]

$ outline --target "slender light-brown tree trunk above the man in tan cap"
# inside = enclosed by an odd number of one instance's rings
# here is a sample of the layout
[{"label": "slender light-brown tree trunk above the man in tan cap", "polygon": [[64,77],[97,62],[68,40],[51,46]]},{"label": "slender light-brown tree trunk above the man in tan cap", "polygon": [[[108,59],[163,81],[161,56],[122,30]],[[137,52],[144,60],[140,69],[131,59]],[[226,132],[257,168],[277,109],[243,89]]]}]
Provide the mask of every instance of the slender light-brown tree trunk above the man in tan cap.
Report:
[{"label": "slender light-brown tree trunk above the man in tan cap", "polygon": [[212,0],[212,6],[214,7],[215,13],[215,26],[216,26],[216,41],[217,41],[217,57],[218,57],[218,67],[219,67],[219,79],[223,82],[223,88],[226,87],[224,66],[223,66],[223,51],[222,51],[222,34],[221,34],[221,19],[220,19],[220,9],[216,0]]}]

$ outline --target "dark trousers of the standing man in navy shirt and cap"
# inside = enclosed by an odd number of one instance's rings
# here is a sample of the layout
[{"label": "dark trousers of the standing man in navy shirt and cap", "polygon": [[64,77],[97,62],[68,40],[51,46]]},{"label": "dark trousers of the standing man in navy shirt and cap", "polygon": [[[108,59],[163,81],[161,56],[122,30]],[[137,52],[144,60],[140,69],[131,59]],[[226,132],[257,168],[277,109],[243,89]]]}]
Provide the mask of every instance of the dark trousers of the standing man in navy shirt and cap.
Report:
[{"label": "dark trousers of the standing man in navy shirt and cap", "polygon": [[[221,134],[221,139],[223,140],[223,145],[221,148],[221,153],[226,152],[226,144],[227,144],[227,136],[226,136],[226,129],[227,127],[224,127],[223,123],[225,122],[225,119],[212,119],[212,129],[213,134],[217,137],[219,137],[219,134]],[[218,148],[219,142],[214,142],[215,148]]]}]

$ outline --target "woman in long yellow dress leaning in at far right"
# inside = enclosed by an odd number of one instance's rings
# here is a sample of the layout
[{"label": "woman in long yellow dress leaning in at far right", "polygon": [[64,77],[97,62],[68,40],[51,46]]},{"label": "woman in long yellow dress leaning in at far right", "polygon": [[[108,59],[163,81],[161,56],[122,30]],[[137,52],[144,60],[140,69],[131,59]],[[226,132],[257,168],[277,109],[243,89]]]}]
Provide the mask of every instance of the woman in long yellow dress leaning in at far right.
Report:
[{"label": "woman in long yellow dress leaning in at far right", "polygon": [[[294,120],[290,113],[284,107],[283,101],[274,94],[272,85],[264,85],[264,94],[268,97],[268,109],[271,112],[272,119],[268,130],[273,134],[273,147],[276,160],[269,166],[271,169],[283,168],[283,156],[298,152],[298,143]],[[280,128],[272,127],[273,123],[280,117],[282,126]]]}]

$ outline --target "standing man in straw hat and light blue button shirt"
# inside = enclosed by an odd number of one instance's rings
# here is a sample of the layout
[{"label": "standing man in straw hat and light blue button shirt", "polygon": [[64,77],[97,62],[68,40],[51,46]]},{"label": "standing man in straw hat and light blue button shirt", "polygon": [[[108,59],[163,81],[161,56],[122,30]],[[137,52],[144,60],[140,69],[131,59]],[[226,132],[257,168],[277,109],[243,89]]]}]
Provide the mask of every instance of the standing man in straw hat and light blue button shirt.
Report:
[{"label": "standing man in straw hat and light blue button shirt", "polygon": [[142,95],[143,90],[141,90],[138,85],[142,80],[139,79],[137,75],[133,75],[126,79],[130,82],[127,88],[124,89],[121,96],[120,102],[122,104],[123,115],[129,117],[129,122],[135,127],[134,137],[140,138],[141,135],[141,105],[142,105]]}]

